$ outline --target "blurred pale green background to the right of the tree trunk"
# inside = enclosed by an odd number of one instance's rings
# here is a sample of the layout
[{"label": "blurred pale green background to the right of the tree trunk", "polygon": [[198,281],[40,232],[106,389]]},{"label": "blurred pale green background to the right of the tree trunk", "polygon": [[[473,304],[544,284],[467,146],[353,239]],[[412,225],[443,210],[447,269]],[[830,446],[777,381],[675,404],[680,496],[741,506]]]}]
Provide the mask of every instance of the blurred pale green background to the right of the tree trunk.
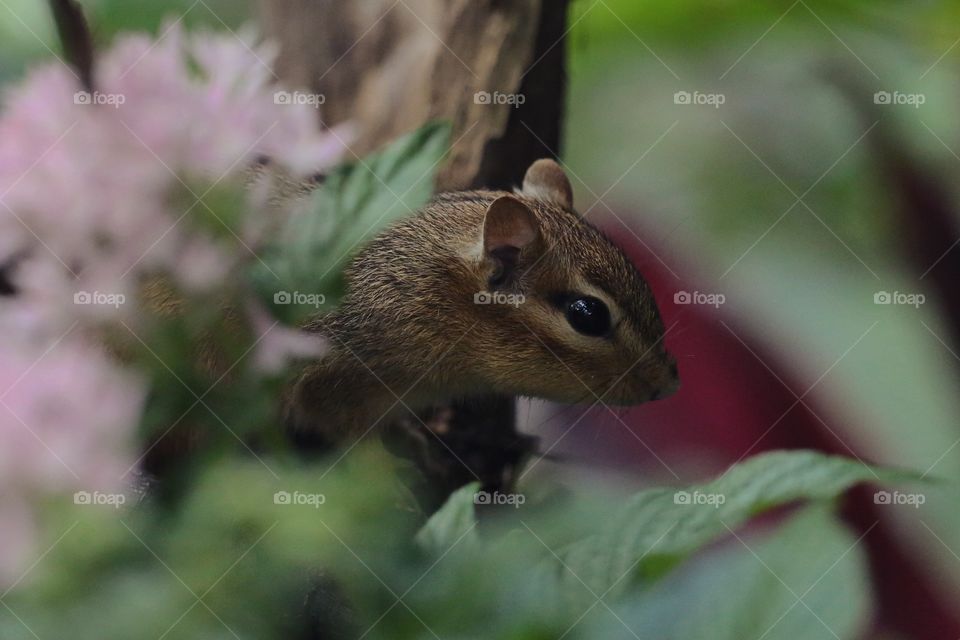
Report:
[{"label": "blurred pale green background to the right of the tree trunk", "polygon": [[[642,221],[668,269],[724,293],[724,313],[793,367],[797,393],[817,384],[840,418],[829,428],[851,448],[960,477],[960,360],[931,283],[906,262],[899,202],[865,135],[898,131],[903,153],[960,202],[960,5],[573,8],[565,156],[581,210],[602,197],[601,218],[606,205],[620,218],[640,214],[626,223]],[[925,103],[879,105],[865,118],[838,72],[867,99],[899,91]],[[726,101],[677,105],[677,91]],[[878,291],[924,293],[927,303],[880,306]],[[956,497],[934,491],[898,524],[960,596]]]}]

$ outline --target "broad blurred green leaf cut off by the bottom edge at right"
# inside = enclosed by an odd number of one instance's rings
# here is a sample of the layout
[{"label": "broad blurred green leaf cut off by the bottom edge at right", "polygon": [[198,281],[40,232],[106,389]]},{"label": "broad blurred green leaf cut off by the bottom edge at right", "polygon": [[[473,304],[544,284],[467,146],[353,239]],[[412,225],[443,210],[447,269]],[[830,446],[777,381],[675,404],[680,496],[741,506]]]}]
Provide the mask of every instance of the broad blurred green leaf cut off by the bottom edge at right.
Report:
[{"label": "broad blurred green leaf cut off by the bottom edge at right", "polygon": [[624,625],[663,640],[862,637],[870,588],[859,542],[828,509],[805,509],[773,535],[734,539],[631,598],[619,620],[597,607],[582,637],[621,637]]}]

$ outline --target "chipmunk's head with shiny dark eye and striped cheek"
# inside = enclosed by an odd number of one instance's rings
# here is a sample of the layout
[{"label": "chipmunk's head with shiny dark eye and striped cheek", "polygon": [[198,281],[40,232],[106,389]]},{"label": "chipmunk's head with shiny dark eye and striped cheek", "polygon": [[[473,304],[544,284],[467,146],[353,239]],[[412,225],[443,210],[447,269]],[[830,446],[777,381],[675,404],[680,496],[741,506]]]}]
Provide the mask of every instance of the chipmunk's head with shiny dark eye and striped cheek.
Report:
[{"label": "chipmunk's head with shiny dark eye and striped cheek", "polygon": [[[479,244],[479,243],[478,243]],[[676,361],[650,286],[573,210],[570,182],[538,160],[484,214],[474,313],[501,388],[561,402],[637,404],[672,394]],[[493,322],[483,320],[493,319]]]}]

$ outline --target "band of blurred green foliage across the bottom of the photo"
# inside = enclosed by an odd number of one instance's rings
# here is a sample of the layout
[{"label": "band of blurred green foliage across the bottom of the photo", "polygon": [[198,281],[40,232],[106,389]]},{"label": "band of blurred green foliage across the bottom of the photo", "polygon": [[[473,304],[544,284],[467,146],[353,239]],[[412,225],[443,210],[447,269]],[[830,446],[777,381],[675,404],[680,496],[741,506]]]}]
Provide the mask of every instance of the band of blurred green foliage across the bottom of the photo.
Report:
[{"label": "band of blurred green foliage across the bottom of the photo", "polygon": [[[323,576],[374,638],[609,637],[621,625],[665,638],[713,638],[718,629],[747,637],[737,634],[768,627],[773,638],[822,637],[813,616],[852,638],[867,607],[864,557],[824,501],[874,474],[909,477],[776,452],[706,485],[611,499],[604,516],[579,523],[586,510],[578,502],[602,492],[545,508],[506,506],[482,532],[471,485],[415,542],[419,517],[395,467],[375,447],[321,465],[234,456],[205,469],[172,512],[151,500],[119,511],[52,505],[54,544],[5,598],[16,617],[0,615],[2,635],[28,638],[29,627],[40,637],[105,640],[230,630],[291,637],[303,624],[304,594]],[[820,506],[788,515],[773,533],[742,531],[748,515],[796,500]],[[559,542],[570,526],[587,533]],[[731,534],[735,542],[704,551]],[[733,597],[730,584],[738,585]],[[676,615],[691,607],[695,615]]]}]

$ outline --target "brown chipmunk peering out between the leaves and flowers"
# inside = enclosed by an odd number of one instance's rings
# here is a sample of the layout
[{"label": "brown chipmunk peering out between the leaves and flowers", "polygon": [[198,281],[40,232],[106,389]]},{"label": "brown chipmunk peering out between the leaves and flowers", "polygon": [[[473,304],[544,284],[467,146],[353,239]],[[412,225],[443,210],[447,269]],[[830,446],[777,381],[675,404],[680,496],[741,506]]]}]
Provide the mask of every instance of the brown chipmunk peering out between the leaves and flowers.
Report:
[{"label": "brown chipmunk peering out between the leaves and flowers", "polygon": [[372,240],[334,312],[330,350],[296,381],[295,432],[334,441],[404,412],[489,394],[632,405],[673,393],[649,285],[538,160],[516,193],[438,195]]}]

